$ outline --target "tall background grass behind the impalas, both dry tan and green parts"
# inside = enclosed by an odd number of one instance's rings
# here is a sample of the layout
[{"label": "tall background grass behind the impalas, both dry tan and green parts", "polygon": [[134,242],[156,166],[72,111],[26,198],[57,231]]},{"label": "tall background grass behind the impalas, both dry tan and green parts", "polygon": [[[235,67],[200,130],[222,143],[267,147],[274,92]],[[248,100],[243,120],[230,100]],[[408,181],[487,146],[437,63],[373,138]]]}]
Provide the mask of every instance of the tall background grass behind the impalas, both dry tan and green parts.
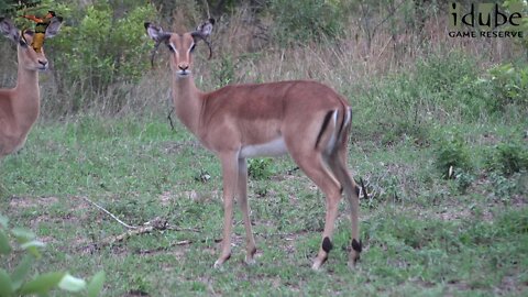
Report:
[{"label": "tall background grass behind the impalas, both dry tan and green parts", "polygon": [[[449,37],[446,16],[441,10],[430,14],[419,34],[408,31],[397,20],[402,15],[395,13],[391,22],[383,23],[374,35],[369,36],[370,46],[366,46],[364,24],[359,20],[361,13],[356,14],[358,18],[350,18],[349,23],[342,26],[343,32],[338,37],[283,46],[278,43],[280,40],[273,38],[271,28],[277,24],[272,16],[256,18],[248,7],[237,9],[217,22],[212,35],[215,55],[211,61],[206,59],[205,46],[199,46],[195,79],[204,90],[212,90],[226,84],[316,79],[344,94],[353,106],[360,105],[360,109],[374,112],[370,114],[373,118],[380,117],[378,112],[385,110],[387,102],[410,98],[419,98],[416,105],[424,107],[420,112],[427,113],[437,107],[435,116],[442,118],[452,114],[453,109],[462,102],[465,107],[454,112],[457,117],[477,118],[483,107],[473,106],[475,102],[468,105],[460,96],[471,96],[473,90],[470,88],[474,87],[474,79],[493,64],[524,56],[522,50],[509,40]],[[189,15],[198,22],[196,13]],[[183,21],[182,15],[173,19],[177,21],[165,24],[166,28],[177,32],[183,32],[183,28],[193,29],[188,21]],[[378,19],[380,16],[373,16],[376,22],[380,22]],[[392,28],[395,22],[397,32]],[[143,38],[145,44],[148,43],[146,35]],[[15,68],[10,61],[14,61],[15,53],[7,41],[2,41],[0,46],[6,53],[1,57],[1,68],[6,69],[0,77],[2,87],[12,86]],[[51,52],[47,55],[52,63],[61,58],[61,53]],[[143,58],[146,56],[147,53]],[[142,69],[143,76],[139,82],[111,84],[98,92],[98,100],[94,101],[82,99],[84,96],[94,95],[79,94],[80,81],[57,85],[59,80],[56,78],[61,69],[55,68],[42,75],[43,117],[57,119],[72,116],[72,111],[116,114],[141,113],[145,108],[154,112],[166,110],[169,80],[165,48],[161,48],[157,67]],[[458,89],[452,89],[449,84],[455,84],[454,88]],[[435,98],[426,98],[421,90],[429,86],[436,88]],[[376,95],[376,90],[382,88],[393,89],[393,94]],[[410,88],[415,90],[409,90]],[[397,91],[402,94],[395,94]],[[376,102],[377,110],[373,106],[362,107],[362,101]],[[416,105],[407,106],[409,112],[416,112],[413,111]],[[443,116],[441,109],[446,109]],[[424,114],[418,116],[420,118]]]}]

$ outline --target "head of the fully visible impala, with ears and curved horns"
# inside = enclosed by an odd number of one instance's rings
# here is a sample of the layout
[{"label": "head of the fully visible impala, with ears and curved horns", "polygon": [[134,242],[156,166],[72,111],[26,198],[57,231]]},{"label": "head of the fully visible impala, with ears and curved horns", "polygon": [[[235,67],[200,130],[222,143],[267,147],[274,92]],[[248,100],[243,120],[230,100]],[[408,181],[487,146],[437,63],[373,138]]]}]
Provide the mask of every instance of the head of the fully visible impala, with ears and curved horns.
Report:
[{"label": "head of the fully visible impala, with ears and curved horns", "polygon": [[193,52],[199,41],[204,41],[207,44],[209,58],[211,58],[212,50],[207,37],[211,34],[213,24],[215,19],[209,19],[193,32],[176,34],[164,32],[160,26],[145,23],[146,33],[156,42],[152,52],[151,63],[154,63],[157,47],[164,43],[170,51],[170,69],[178,77],[188,77],[191,74]]}]

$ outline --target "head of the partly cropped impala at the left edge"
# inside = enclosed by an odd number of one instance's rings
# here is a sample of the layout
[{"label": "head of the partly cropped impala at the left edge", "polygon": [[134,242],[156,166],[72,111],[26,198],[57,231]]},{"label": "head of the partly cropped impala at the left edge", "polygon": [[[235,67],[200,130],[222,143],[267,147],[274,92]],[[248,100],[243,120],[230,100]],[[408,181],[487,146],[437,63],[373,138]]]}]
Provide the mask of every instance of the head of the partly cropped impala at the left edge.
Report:
[{"label": "head of the partly cropped impala at the left edge", "polygon": [[43,50],[44,40],[58,33],[62,21],[62,18],[53,18],[44,34],[31,30],[21,32],[11,20],[0,18],[0,33],[18,44],[19,65],[28,70],[45,70],[47,58]]}]

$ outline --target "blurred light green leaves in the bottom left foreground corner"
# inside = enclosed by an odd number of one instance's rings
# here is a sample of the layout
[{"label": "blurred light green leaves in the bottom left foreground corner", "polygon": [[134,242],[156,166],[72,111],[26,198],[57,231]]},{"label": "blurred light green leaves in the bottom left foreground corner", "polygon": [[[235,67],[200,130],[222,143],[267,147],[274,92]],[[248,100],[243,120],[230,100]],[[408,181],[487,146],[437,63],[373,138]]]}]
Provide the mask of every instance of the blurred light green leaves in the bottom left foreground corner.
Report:
[{"label": "blurred light green leaves in the bottom left foreground corner", "polygon": [[[37,273],[30,276],[31,266],[42,257],[40,248],[44,243],[38,241],[35,234],[22,228],[9,228],[9,220],[0,215],[0,260],[14,256],[9,238],[16,240],[19,248],[25,252],[25,255],[19,262],[18,266],[9,273],[0,267],[0,296],[47,296],[54,289],[59,288],[64,292],[81,294],[89,297],[98,296],[105,283],[105,272],[97,273],[89,283],[81,278],[72,276],[67,272]],[[2,263],[4,263],[2,261]]]}]

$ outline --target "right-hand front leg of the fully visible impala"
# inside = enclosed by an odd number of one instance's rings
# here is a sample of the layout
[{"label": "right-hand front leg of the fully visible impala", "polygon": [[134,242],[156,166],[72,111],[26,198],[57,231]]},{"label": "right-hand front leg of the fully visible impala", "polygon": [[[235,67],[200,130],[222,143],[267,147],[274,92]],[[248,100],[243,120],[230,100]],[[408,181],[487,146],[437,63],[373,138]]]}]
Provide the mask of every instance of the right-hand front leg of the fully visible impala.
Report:
[{"label": "right-hand front leg of the fully visible impala", "polygon": [[251,230],[251,220],[250,220],[250,206],[248,204],[248,163],[245,158],[239,158],[239,180],[238,180],[238,198],[240,204],[240,209],[244,217],[244,227],[245,227],[245,263],[253,264],[255,261],[253,256],[256,253],[255,239],[253,238],[253,231]]}]

